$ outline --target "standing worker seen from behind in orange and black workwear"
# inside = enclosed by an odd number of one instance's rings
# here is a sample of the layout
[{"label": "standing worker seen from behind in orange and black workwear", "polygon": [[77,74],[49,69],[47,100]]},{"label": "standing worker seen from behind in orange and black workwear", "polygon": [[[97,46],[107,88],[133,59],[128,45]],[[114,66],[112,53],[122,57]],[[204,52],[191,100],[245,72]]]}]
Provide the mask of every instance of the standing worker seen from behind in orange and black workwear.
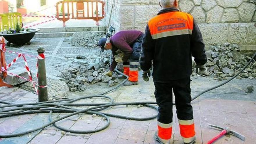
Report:
[{"label": "standing worker seen from behind in orange and black workwear", "polygon": [[184,144],[195,143],[191,106],[191,54],[198,68],[207,62],[202,34],[193,16],[179,12],[177,0],[159,0],[163,8],[147,24],[142,42],[141,69],[149,81],[153,60],[153,81],[158,104],[158,132],[154,138],[169,144],[172,136],[173,93],[180,135]]}]

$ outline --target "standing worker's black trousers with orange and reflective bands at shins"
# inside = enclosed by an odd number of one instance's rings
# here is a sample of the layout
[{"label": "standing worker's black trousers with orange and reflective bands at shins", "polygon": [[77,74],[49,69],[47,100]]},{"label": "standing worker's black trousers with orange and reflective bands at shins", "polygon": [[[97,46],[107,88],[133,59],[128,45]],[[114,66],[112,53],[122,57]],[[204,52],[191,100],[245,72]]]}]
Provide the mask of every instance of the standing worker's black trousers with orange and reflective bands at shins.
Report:
[{"label": "standing worker's black trousers with orange and reflective bands at shins", "polygon": [[175,95],[176,113],[179,120],[180,134],[184,143],[195,140],[195,126],[191,102],[190,77],[178,80],[158,81],[154,79],[155,97],[158,107],[158,136],[163,143],[171,138],[173,122],[173,93]]}]

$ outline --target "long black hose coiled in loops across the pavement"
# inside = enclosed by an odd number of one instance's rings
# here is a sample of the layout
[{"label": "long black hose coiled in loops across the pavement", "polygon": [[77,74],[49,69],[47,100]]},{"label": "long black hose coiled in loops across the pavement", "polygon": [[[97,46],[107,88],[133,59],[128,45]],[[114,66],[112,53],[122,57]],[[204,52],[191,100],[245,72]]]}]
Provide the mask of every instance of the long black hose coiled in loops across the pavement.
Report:
[{"label": "long black hose coiled in loops across the pavement", "polygon": [[[229,80],[219,84],[218,86],[214,86],[213,88],[209,88],[201,93],[199,93],[198,95],[196,95],[195,97],[192,98],[192,100],[196,99],[197,97],[199,97],[200,95],[213,90],[215,88],[218,88],[220,86],[223,86],[224,84],[228,83],[229,81],[231,81],[232,79],[234,79],[235,77],[237,77],[246,67],[248,67],[248,65],[253,61],[253,59],[255,58],[256,53],[254,54],[254,56],[252,57],[252,59],[243,67],[242,70],[240,70],[237,74],[235,74],[232,78],[230,78]],[[97,131],[101,131],[103,129],[106,129],[109,124],[110,124],[110,119],[108,116],[111,117],[116,117],[116,118],[123,118],[123,119],[130,119],[130,120],[151,120],[157,117],[156,115],[150,116],[150,117],[146,117],[146,118],[135,118],[135,117],[129,117],[129,116],[123,116],[123,115],[115,115],[115,114],[111,114],[111,113],[102,113],[102,112],[97,112],[103,109],[106,109],[110,106],[124,106],[124,105],[139,105],[142,104],[144,106],[147,106],[149,108],[154,109],[155,111],[157,110],[156,106],[153,106],[151,104],[156,104],[156,102],[127,102],[127,103],[114,103],[113,99],[109,96],[105,96],[104,94],[118,88],[119,86],[121,86],[123,83],[125,83],[128,80],[128,76],[121,73],[120,71],[116,70],[119,74],[124,75],[125,77],[127,77],[127,79],[125,79],[125,81],[123,81],[122,83],[118,84],[117,86],[115,86],[114,88],[111,88],[110,90],[107,90],[103,93],[101,93],[100,95],[91,95],[91,96],[84,96],[84,97],[79,97],[76,99],[61,99],[61,100],[56,100],[56,101],[48,101],[48,102],[38,102],[38,103],[25,103],[25,104],[13,104],[11,102],[7,102],[7,101],[3,101],[0,100],[0,103],[3,104],[7,104],[4,106],[0,106],[0,108],[4,108],[4,107],[12,107],[12,106],[16,106],[18,108],[15,109],[11,109],[11,110],[5,110],[5,111],[0,111],[0,118],[4,118],[4,117],[10,117],[10,116],[14,116],[14,115],[24,115],[24,114],[31,114],[31,113],[49,113],[49,120],[50,122],[35,128],[35,129],[31,129],[29,131],[25,131],[25,132],[21,132],[21,133],[16,133],[16,134],[6,134],[6,135],[0,135],[0,138],[8,138],[8,137],[15,137],[15,136],[21,136],[24,134],[29,134],[31,132],[34,131],[38,131],[40,129],[44,129],[45,127],[48,127],[49,125],[54,125],[55,127],[58,127],[59,129],[62,129],[64,131],[70,131],[73,133],[93,133],[93,132],[97,132]],[[77,100],[80,99],[86,99],[86,98],[94,98],[94,97],[101,97],[101,98],[107,98],[110,99],[111,102],[109,103],[101,103],[101,104],[72,104],[72,102],[76,102]],[[173,105],[175,105],[175,103],[173,103]],[[93,106],[87,109],[74,109],[72,107],[68,107],[68,106]],[[51,115],[52,113],[70,113],[67,114],[61,118],[57,118],[57,119],[52,119]],[[64,127],[60,127],[58,125],[56,125],[55,123],[63,120],[65,118],[68,118],[70,116],[73,115],[77,115],[79,113],[87,113],[87,114],[96,114],[96,115],[101,115],[102,117],[106,118],[106,124],[99,128],[99,129],[95,129],[95,130],[85,130],[85,131],[80,131],[80,130],[72,130],[72,129],[67,129]]]}]

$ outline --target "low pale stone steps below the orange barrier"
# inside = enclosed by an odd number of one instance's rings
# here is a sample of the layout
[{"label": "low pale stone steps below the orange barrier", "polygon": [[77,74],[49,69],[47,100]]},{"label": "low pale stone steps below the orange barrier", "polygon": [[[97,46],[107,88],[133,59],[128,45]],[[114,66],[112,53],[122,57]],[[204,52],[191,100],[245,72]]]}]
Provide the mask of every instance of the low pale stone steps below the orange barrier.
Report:
[{"label": "low pale stone steps below the orange barrier", "polygon": [[40,28],[40,31],[35,33],[34,38],[70,37],[75,32],[84,32],[84,31],[104,32],[106,31],[106,26]]}]

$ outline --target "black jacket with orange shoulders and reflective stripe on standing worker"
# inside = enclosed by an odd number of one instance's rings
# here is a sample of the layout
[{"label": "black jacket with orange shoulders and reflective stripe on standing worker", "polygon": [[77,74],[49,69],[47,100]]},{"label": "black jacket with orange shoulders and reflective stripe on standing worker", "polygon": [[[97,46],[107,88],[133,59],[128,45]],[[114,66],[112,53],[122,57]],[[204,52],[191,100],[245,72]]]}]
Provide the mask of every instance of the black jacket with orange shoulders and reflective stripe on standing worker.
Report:
[{"label": "black jacket with orange shoulders and reflective stripe on standing worker", "polygon": [[207,62],[202,34],[190,14],[166,8],[152,18],[142,42],[141,69],[149,70],[153,60],[153,78],[168,81],[189,77],[191,54],[197,65]]}]

